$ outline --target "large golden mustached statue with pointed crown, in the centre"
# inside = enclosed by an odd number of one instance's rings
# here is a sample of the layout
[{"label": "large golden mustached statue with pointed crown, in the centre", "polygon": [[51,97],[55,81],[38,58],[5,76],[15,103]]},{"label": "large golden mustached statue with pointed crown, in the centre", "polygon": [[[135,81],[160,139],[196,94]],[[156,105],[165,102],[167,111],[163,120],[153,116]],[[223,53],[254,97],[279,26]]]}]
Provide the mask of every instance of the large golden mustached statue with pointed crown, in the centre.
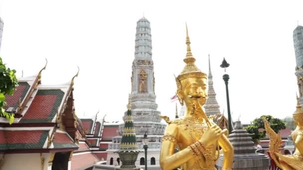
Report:
[{"label": "large golden mustached statue with pointed crown, in the centre", "polygon": [[[202,109],[207,97],[207,76],[194,64],[187,26],[186,45],[187,54],[183,60],[186,65],[176,78],[176,94],[181,105],[186,104],[186,115],[172,121],[161,116],[168,125],[162,137],[160,166],[162,170],[178,167],[181,170],[216,170],[215,162],[219,158],[220,146],[224,154],[223,170],[231,170],[234,150],[224,135],[227,129],[221,130],[208,120]],[[176,153],[175,148],[178,148]]]}]

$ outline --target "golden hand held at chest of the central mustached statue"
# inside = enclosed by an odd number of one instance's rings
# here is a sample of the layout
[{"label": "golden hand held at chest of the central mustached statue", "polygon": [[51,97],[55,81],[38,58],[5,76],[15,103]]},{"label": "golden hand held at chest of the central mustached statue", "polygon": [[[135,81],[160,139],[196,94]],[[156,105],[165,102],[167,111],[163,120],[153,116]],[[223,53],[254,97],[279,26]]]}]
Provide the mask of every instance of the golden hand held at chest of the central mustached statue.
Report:
[{"label": "golden hand held at chest of the central mustached statue", "polygon": [[227,129],[221,130],[219,126],[213,124],[204,132],[199,141],[202,142],[205,147],[208,147],[209,145],[216,143],[226,131]]}]

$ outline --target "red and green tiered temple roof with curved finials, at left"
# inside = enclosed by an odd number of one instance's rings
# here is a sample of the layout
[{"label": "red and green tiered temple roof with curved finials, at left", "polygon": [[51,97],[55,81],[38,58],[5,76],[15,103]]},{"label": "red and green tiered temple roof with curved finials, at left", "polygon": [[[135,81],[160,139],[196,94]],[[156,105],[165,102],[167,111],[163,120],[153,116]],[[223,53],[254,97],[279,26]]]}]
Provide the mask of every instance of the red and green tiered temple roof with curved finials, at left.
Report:
[{"label": "red and green tiered temple roof with curved finials, at left", "polygon": [[76,131],[81,127],[75,122],[74,77],[65,84],[42,85],[41,72],[45,68],[46,65],[34,76],[19,78],[13,95],[6,95],[5,109],[15,118],[9,125],[7,119],[0,117],[1,152],[33,153],[39,149],[38,152],[43,153],[78,149],[76,139],[81,132]]}]

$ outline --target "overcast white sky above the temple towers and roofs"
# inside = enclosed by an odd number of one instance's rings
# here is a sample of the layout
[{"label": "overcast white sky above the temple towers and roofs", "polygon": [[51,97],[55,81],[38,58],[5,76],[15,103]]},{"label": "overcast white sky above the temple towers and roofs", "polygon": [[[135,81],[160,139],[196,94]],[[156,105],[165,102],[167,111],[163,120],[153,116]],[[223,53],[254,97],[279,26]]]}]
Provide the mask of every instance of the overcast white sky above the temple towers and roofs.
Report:
[{"label": "overcast white sky above the temple towers and roofs", "polygon": [[174,116],[173,74],[184,67],[185,22],[196,65],[208,74],[208,57],[221,111],[226,109],[223,69],[230,63],[233,119],[263,114],[284,118],[296,108],[293,30],[303,24],[302,0],[0,0],[4,21],[0,56],[17,76],[42,73],[42,84],[75,80],[80,117],[121,120],[131,91],[136,24],[151,21],[158,110]]}]

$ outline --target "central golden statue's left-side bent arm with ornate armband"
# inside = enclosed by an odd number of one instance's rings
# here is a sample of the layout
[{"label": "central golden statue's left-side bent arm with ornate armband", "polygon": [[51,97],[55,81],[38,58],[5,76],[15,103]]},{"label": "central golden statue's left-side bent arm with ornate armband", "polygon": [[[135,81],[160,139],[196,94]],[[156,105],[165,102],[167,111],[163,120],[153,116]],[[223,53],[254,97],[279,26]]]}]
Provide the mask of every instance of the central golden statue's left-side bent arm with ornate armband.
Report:
[{"label": "central golden statue's left-side bent arm with ornate armband", "polygon": [[192,159],[193,154],[192,151],[188,148],[185,148],[174,154],[174,149],[176,147],[176,137],[177,134],[177,125],[174,123],[168,124],[165,136],[172,135],[170,140],[162,140],[162,148],[160,152],[160,166],[162,170],[172,170],[186,163],[188,160]]}]

